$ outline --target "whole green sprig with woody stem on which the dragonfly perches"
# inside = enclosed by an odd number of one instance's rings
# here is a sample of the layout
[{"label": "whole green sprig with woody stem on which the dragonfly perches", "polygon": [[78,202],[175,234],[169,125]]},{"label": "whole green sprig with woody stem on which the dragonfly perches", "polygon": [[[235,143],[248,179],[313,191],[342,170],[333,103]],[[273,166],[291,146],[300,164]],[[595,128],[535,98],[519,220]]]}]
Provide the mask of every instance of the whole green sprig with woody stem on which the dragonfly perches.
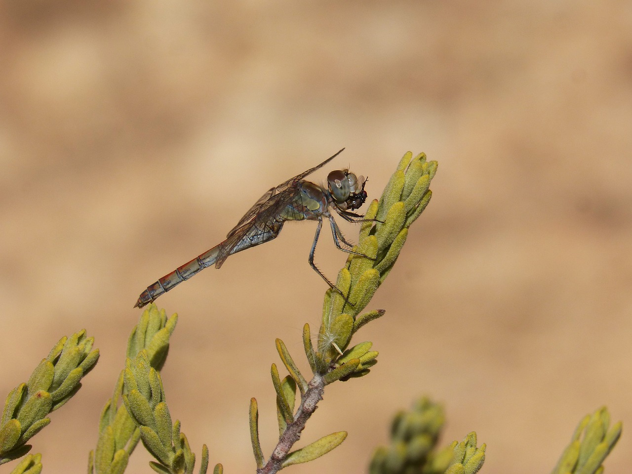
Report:
[{"label": "whole green sprig with woody stem on which the dragonfly perches", "polygon": [[[336,283],[339,292],[330,289],[325,293],[316,347],[309,325],[303,327],[303,349],[312,370],[310,382],[301,374],[284,342],[277,339],[277,352],[289,375],[281,379],[277,366],[272,364],[270,374],[277,394],[279,442],[267,462],[258,439],[257,401],[252,399],[250,405],[250,436],[258,473],[276,472],[289,465],[311,461],[345,439],[346,432],[334,432],[290,451],[322,399],[325,385],[363,377],[377,363],[378,352],[371,350],[372,342],[360,342],[353,347],[349,347],[349,343],[363,325],[384,315],[383,309],[360,313],[397,261],[411,223],[430,201],[430,180],[436,170],[437,163],[427,162],[425,154],[413,158],[412,153],[406,153],[380,200],[370,204],[358,245],[353,247],[353,253],[339,272]],[[300,393],[300,404],[295,410],[296,389]]]}]

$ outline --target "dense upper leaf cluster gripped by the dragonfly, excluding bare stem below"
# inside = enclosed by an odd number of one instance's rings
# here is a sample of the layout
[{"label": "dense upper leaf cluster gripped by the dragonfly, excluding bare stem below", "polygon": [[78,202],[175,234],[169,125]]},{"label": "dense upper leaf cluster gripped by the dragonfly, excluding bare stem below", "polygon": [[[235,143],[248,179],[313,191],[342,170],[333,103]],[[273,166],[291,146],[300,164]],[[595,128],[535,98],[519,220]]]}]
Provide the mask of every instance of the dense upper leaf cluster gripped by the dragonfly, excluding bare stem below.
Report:
[{"label": "dense upper leaf cluster gripped by the dragonfly, excluding bare stem below", "polygon": [[[426,161],[424,153],[415,158],[408,152],[399,162],[379,201],[374,200],[360,228],[358,245],[338,273],[336,287],[327,290],[318,344],[313,348],[309,328],[303,332],[305,352],[312,371],[329,373],[327,383],[363,377],[377,363],[371,343],[363,342],[346,351],[351,337],[369,321],[384,315],[383,309],[362,310],[389,275],[408,237],[408,228],[420,216],[432,197],[430,181],[437,172],[436,161]],[[346,352],[344,352],[346,351]]]}]

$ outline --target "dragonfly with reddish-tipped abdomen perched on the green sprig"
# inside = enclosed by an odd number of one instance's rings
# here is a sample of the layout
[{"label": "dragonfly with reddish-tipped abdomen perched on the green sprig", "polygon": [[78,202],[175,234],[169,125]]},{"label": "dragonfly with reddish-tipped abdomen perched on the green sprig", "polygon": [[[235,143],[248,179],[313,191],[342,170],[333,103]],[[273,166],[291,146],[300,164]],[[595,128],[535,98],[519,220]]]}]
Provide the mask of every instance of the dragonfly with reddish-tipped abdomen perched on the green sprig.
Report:
[{"label": "dragonfly with reddish-tipped abdomen perched on the green sprig", "polygon": [[[237,225],[228,232],[226,240],[149,285],[140,294],[134,307],[142,308],[153,302],[157,297],[185,282],[204,268],[213,264],[216,268],[220,268],[224,261],[234,253],[275,239],[286,221],[301,220],[318,221],[308,263],[332,289],[344,298],[341,291],[314,265],[314,251],[320,236],[323,219],[327,218],[334,243],[338,249],[346,253],[367,257],[350,249],[353,245],[344,239],[343,233],[330,212],[330,209],[333,209],[337,215],[349,222],[367,221],[363,215],[353,212],[362,207],[362,204],[367,200],[367,192],[364,190],[367,178],[358,177],[354,173],[349,173],[349,170],[336,170],[327,176],[327,188],[303,179],[336,158],[343,150],[344,148],[325,159],[320,165],[267,190],[245,213]],[[374,219],[370,219],[370,221],[374,221]],[[343,245],[349,248],[345,248]]]}]

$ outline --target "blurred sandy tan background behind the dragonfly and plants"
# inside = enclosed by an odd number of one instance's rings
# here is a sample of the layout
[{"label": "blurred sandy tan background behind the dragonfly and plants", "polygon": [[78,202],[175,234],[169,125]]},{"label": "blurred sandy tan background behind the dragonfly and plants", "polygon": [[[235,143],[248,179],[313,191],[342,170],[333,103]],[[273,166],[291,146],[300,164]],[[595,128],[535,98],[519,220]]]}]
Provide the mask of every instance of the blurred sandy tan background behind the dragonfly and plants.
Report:
[{"label": "blurred sandy tan background behind the dragonfly and plants", "polygon": [[[444,444],[487,443],[488,473],[550,471],[602,404],[625,424],[607,470],[632,463],[629,1],[8,0],[0,42],[2,393],[61,335],[102,351],[33,440],[47,473],[85,472],[140,291],[343,146],[333,168],[368,175],[370,197],[408,150],[439,172],[369,306],[386,316],[356,339],[379,364],[329,387],[302,441],[348,439],[292,471],[363,472],[423,394],[446,404]],[[274,338],[299,358],[318,324],[314,229],[159,299],[180,316],[172,415],[229,473],[254,471],[252,396],[273,446]],[[316,258],[332,278],[344,262],[326,230]]]}]

